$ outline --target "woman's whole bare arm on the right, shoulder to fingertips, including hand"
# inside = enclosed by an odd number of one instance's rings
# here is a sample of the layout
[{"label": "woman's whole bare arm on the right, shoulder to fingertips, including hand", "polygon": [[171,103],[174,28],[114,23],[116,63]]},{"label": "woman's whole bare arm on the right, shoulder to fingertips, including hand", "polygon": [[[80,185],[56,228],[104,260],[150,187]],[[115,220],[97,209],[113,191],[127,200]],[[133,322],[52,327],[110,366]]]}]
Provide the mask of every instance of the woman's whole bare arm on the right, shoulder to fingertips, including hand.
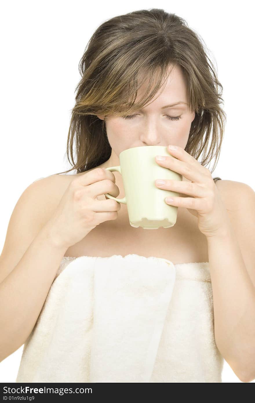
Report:
[{"label": "woman's whole bare arm on the right, shoulder to fingertips, including hand", "polygon": [[216,344],[238,377],[249,382],[255,378],[255,192],[234,181],[216,186],[210,170],[182,147],[169,145],[168,152],[156,162],[191,182],[155,185],[181,193],[166,203],[197,217],[208,244]]}]

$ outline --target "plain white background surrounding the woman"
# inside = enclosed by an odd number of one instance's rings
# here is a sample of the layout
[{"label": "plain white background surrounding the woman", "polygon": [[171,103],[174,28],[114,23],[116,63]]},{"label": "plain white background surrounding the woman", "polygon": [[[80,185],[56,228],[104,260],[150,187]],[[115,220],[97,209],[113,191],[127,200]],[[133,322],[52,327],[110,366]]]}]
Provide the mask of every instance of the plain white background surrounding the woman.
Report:
[{"label": "plain white background surrounding the woman", "polygon": [[[102,22],[134,10],[174,12],[201,35],[218,69],[227,114],[213,177],[247,183],[255,190],[252,2],[238,2],[238,6],[196,0],[124,3],[69,0],[2,5],[0,250],[25,188],[38,178],[70,168],[65,155],[70,110],[81,78],[78,63],[89,37]],[[22,349],[0,363],[0,382],[15,382]],[[226,361],[222,380],[240,382]]]}]

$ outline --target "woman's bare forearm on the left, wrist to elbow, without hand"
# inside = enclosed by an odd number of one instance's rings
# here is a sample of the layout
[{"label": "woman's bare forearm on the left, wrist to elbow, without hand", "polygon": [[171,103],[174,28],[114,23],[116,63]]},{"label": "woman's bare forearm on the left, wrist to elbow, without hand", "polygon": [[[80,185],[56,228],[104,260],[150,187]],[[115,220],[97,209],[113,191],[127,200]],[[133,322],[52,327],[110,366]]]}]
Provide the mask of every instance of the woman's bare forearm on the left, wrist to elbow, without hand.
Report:
[{"label": "woman's bare forearm on the left, wrist to elbow, without hand", "polygon": [[33,330],[65,251],[46,225],[0,283],[0,361]]}]

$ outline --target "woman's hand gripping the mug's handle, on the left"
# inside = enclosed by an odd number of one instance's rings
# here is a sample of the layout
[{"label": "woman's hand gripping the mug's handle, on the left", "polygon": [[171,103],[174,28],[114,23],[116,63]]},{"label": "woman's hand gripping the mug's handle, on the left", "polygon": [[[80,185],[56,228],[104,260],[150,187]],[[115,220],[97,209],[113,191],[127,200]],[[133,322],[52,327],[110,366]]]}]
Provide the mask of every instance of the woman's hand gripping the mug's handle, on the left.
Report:
[{"label": "woman's hand gripping the mug's handle, on the left", "polygon": [[48,221],[54,240],[61,247],[81,241],[101,222],[118,217],[120,203],[113,199],[97,200],[98,195],[120,193],[114,174],[103,168],[95,168],[73,179]]}]

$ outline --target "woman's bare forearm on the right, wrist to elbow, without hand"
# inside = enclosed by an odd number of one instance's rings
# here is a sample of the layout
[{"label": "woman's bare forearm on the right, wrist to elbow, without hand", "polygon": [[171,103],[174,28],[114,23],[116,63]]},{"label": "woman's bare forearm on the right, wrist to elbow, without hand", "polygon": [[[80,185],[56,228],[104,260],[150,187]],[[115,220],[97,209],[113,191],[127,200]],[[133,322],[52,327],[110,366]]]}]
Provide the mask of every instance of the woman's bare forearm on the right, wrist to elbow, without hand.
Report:
[{"label": "woman's bare forearm on the right, wrist to elbow, without hand", "polygon": [[249,377],[255,372],[255,288],[230,223],[207,245],[216,345],[237,376]]}]

